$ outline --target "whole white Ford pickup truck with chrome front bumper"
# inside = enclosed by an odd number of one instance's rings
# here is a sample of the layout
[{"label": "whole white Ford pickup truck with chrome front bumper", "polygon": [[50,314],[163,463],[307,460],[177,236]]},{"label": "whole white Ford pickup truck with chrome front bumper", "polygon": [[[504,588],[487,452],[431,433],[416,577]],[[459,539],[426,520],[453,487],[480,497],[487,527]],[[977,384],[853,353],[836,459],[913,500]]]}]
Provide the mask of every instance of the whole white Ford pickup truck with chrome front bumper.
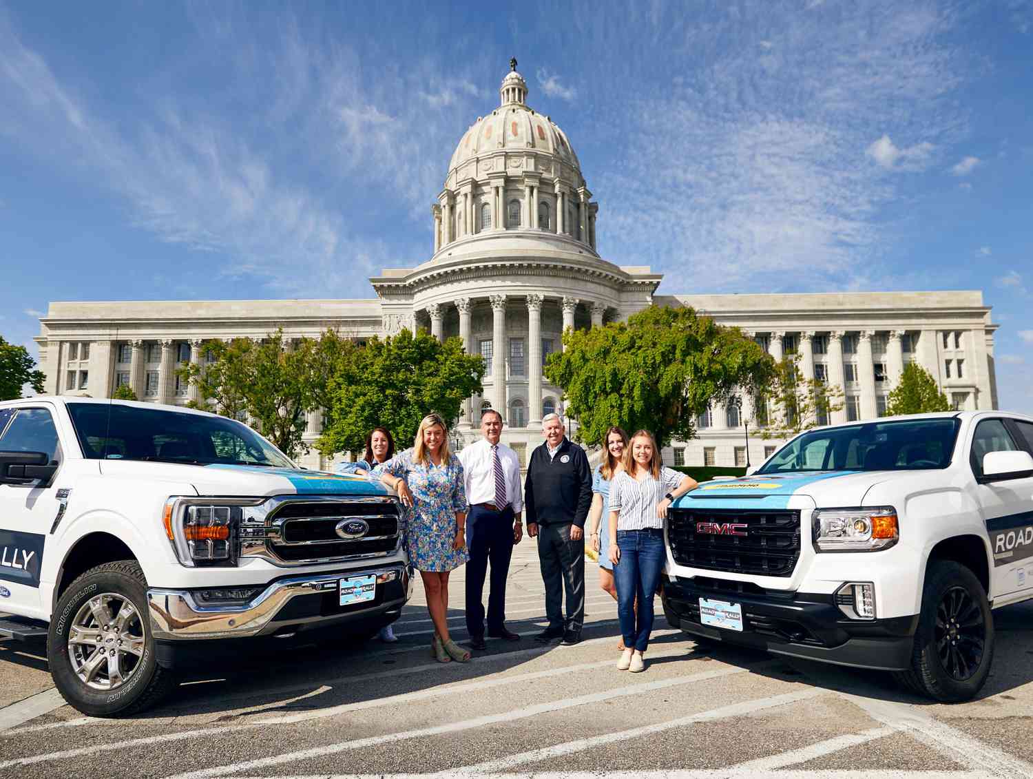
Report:
[{"label": "whole white Ford pickup truck with chrome front bumper", "polygon": [[298,468],[232,419],[0,403],[0,636],[46,635],[86,714],[152,705],[245,638],[376,632],[411,594],[403,530],[378,482]]}]

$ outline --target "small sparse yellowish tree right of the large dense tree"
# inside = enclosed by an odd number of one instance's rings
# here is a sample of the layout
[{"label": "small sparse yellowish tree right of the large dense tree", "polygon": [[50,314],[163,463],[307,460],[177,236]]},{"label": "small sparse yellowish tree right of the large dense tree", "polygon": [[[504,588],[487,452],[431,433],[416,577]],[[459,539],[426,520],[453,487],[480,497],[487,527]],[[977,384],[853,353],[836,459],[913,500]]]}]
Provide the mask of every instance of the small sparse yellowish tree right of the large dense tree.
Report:
[{"label": "small sparse yellowish tree right of the large dense tree", "polygon": [[[766,401],[766,402],[765,402]],[[820,379],[807,379],[800,370],[800,355],[786,354],[754,408],[764,408],[758,423],[766,425],[762,438],[791,438],[805,430],[827,425],[834,411],[843,408],[843,390]]]}]

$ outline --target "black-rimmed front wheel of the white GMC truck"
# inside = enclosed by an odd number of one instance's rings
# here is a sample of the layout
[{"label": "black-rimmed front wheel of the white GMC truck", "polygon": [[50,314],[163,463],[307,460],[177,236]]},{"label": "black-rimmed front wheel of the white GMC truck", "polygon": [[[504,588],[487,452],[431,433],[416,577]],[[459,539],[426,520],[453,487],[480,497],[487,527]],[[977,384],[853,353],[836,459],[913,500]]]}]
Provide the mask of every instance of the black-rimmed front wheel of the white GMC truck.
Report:
[{"label": "black-rimmed front wheel of the white GMC truck", "polygon": [[943,703],[978,694],[994,659],[994,616],[975,574],[950,560],[930,564],[911,668],[898,681]]}]

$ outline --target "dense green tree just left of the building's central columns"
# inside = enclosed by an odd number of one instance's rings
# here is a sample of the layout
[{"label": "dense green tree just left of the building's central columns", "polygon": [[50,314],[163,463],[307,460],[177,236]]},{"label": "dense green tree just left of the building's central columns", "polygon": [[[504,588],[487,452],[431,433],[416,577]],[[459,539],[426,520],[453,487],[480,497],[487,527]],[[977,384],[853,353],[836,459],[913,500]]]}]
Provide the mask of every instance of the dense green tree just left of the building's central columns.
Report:
[{"label": "dense green tree just left of the building's central columns", "polygon": [[354,451],[370,430],[381,426],[405,448],[428,413],[458,418],[463,402],[483,392],[483,376],[484,361],[467,354],[458,338],[442,343],[408,330],[373,338],[337,361],[326,424],[316,445],[324,455]]}]

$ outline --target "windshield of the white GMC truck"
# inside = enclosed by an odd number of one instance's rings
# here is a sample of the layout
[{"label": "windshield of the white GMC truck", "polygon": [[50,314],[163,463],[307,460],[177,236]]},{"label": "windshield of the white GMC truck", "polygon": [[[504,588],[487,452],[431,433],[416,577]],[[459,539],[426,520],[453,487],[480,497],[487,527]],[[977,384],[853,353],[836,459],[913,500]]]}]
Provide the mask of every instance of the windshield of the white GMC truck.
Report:
[{"label": "windshield of the white GMC truck", "polygon": [[946,468],[960,426],[957,417],[938,417],[815,430],[789,441],[757,473]]}]

